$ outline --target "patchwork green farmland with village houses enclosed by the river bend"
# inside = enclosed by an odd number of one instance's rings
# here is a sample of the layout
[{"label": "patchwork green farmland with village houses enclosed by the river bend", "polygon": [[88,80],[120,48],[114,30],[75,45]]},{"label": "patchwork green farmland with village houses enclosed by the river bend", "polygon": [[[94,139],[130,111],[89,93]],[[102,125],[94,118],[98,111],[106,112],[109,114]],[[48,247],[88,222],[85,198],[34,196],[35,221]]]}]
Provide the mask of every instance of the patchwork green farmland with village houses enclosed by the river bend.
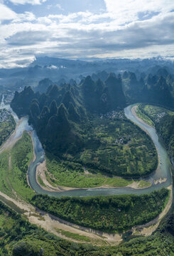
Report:
[{"label": "patchwork green farmland with village houses enclosed by the river bend", "polygon": [[[78,157],[85,166],[124,177],[146,176],[156,169],[157,153],[150,137],[124,118],[102,117],[93,120],[94,139]],[[91,134],[92,137],[92,134]],[[97,140],[99,143],[97,144]],[[92,143],[92,142],[95,142]]]}]

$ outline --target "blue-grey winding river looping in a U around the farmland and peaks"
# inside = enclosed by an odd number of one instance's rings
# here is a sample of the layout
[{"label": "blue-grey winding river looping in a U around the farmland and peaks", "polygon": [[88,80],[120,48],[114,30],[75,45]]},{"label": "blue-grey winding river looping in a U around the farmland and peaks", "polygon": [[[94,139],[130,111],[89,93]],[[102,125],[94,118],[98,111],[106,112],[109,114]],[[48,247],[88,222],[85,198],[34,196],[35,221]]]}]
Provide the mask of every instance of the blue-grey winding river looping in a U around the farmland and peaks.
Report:
[{"label": "blue-grey winding river looping in a U around the farmland and peaks", "polygon": [[[11,107],[9,105],[4,104],[4,98],[2,99],[0,109],[6,108],[7,110],[10,110],[13,114],[14,119],[18,123],[18,126],[16,128],[16,133],[14,138],[21,137],[21,134],[23,131],[33,131],[32,137],[33,137],[33,144],[34,144],[34,150],[36,154],[36,159],[31,163],[28,169],[28,181],[36,193],[42,193],[47,194],[48,196],[108,196],[108,195],[121,195],[121,194],[142,194],[142,193],[151,193],[155,189],[160,189],[162,187],[168,187],[171,184],[172,177],[170,169],[172,169],[172,165],[170,164],[170,159],[168,157],[167,151],[165,150],[165,147],[163,146],[163,143],[158,138],[158,134],[156,133],[156,129],[153,127],[148,126],[148,124],[144,124],[143,122],[140,122],[136,116],[131,112],[131,107],[126,107],[124,109],[125,115],[128,119],[130,119],[132,122],[137,124],[139,127],[146,129],[148,134],[150,134],[151,139],[153,140],[153,143],[156,145],[156,149],[158,150],[158,156],[160,160],[160,165],[158,169],[148,178],[145,180],[150,180],[152,183],[152,186],[149,188],[142,188],[142,189],[134,189],[134,188],[90,188],[90,189],[76,189],[76,190],[70,190],[70,191],[61,191],[61,192],[50,192],[45,191],[43,188],[39,186],[39,184],[36,181],[36,167],[38,164],[40,164],[44,159],[44,151],[43,147],[40,144],[40,141],[38,139],[38,136],[36,134],[36,131],[32,129],[31,126],[28,125],[28,119],[27,117],[23,117],[23,119],[18,120],[18,117],[16,114],[11,110]],[[165,182],[163,183],[154,183],[154,181],[158,180],[159,178],[165,179]]]}]

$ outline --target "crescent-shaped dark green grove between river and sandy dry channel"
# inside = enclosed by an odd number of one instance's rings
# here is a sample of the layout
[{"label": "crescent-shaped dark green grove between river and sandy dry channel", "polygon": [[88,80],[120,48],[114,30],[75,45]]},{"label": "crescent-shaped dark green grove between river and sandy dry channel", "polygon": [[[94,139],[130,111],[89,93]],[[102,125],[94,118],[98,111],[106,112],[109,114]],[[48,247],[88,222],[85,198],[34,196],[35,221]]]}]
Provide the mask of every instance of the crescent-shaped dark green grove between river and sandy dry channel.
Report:
[{"label": "crescent-shaped dark green grove between river and sandy dry channel", "polygon": [[59,218],[95,230],[121,233],[135,225],[148,223],[165,207],[168,189],[141,196],[97,196],[50,198],[36,195],[31,203]]}]

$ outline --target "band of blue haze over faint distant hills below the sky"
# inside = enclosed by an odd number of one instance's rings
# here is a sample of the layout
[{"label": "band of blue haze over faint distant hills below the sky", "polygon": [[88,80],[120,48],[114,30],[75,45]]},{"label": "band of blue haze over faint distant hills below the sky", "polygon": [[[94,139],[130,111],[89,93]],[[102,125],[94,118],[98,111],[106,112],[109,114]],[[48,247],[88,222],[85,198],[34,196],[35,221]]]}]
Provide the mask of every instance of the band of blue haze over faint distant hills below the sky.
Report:
[{"label": "band of blue haze over faint distant hills below the sky", "polygon": [[[101,73],[124,73],[133,72],[137,79],[144,76],[159,75],[161,68],[165,68],[169,74],[174,74],[174,64],[163,58],[151,59],[104,59],[104,60],[66,60],[60,58],[37,57],[36,60],[26,68],[1,68],[0,69],[0,93],[7,90],[19,90],[25,86],[36,87],[40,80],[49,78],[55,84],[69,82],[71,79],[79,83],[87,75]],[[164,75],[163,72],[161,75]],[[102,77],[101,77],[102,78]],[[92,76],[94,80],[94,75]],[[105,76],[102,80],[106,80]]]}]

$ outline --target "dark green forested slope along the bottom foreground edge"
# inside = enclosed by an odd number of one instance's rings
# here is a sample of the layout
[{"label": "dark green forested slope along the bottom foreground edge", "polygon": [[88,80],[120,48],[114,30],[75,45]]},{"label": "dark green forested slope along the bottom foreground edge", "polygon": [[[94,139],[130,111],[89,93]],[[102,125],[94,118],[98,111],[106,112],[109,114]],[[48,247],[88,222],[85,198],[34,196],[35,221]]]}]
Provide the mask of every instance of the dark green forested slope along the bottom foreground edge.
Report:
[{"label": "dark green forested slope along the bottom foreground edge", "polygon": [[174,215],[165,218],[154,235],[119,246],[96,247],[60,239],[31,225],[0,201],[1,256],[164,256],[174,255]]}]

